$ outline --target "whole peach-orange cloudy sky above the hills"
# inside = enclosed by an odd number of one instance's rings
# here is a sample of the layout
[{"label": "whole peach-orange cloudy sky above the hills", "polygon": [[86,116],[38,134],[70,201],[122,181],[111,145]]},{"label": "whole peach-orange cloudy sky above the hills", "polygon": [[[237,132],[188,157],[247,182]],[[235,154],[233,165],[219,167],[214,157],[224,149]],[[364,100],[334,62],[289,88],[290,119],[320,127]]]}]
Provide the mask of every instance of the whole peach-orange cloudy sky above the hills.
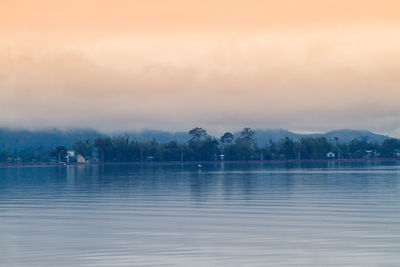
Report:
[{"label": "whole peach-orange cloudy sky above the hills", "polygon": [[0,0],[0,127],[400,137],[398,0]]}]

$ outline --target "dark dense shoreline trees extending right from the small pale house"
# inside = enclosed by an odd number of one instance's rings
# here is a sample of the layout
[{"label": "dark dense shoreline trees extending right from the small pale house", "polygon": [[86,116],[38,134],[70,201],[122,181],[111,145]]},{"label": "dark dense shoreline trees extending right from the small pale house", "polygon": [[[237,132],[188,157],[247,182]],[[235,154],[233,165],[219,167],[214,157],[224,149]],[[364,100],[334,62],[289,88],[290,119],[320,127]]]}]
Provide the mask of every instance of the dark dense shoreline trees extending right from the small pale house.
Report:
[{"label": "dark dense shoreline trees extending right from the small pale house", "polygon": [[[306,137],[295,141],[289,137],[274,143],[271,140],[263,147],[257,146],[255,132],[244,128],[238,138],[226,132],[219,140],[211,137],[202,128],[189,131],[192,138],[186,144],[176,141],[159,143],[151,141],[131,141],[128,136],[97,138],[94,147],[100,160],[105,162],[141,162],[141,161],[214,161],[223,153],[227,161],[245,160],[296,160],[326,159],[328,152],[340,153],[341,158],[368,158],[373,155],[394,157],[400,149],[398,139],[388,139],[382,145],[367,142],[366,139],[354,139],[349,143],[339,143],[337,138]],[[76,147],[89,146],[91,143],[76,142]],[[85,144],[85,146],[83,145]],[[88,149],[88,151],[90,151]]]}]

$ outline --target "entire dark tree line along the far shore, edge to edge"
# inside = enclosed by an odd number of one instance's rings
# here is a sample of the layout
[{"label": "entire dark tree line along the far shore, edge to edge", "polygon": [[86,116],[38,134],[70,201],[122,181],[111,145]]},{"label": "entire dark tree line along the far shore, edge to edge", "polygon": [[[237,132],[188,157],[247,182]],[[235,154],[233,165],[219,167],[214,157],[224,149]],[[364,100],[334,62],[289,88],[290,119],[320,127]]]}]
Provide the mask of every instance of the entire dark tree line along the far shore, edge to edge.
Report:
[{"label": "entire dark tree line along the far shore, edge to edge", "polygon": [[247,161],[247,160],[318,160],[332,158],[396,158],[400,155],[400,140],[386,139],[383,143],[370,142],[366,138],[340,142],[338,138],[304,137],[293,140],[288,137],[279,142],[269,140],[259,146],[255,132],[244,128],[238,136],[226,132],[215,138],[206,130],[196,127],[189,131],[186,143],[171,141],[160,143],[131,140],[129,136],[98,137],[94,140],[78,140],[72,148],[58,146],[54,149],[36,147],[22,151],[0,151],[0,162],[49,162],[65,161],[68,150],[75,155],[99,162],[196,162],[196,161]]}]

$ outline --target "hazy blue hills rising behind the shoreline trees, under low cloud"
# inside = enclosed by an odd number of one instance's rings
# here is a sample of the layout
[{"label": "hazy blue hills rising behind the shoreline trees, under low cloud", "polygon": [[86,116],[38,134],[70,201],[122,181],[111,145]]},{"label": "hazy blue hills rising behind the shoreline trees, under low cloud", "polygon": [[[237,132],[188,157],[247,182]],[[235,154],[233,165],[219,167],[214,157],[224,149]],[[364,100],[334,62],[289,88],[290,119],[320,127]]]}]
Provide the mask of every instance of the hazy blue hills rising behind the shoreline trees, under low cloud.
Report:
[{"label": "hazy blue hills rising behind the shoreline trees, under low cloud", "polygon": [[[349,142],[354,138],[365,138],[367,141],[383,142],[388,136],[375,134],[369,131],[361,130],[335,130],[324,134],[297,134],[287,130],[255,130],[256,139],[260,146],[265,146],[269,140],[278,142],[282,138],[289,137],[294,140],[300,140],[302,137],[323,136],[328,140],[334,137],[339,138],[339,142]],[[143,130],[139,132],[121,132],[113,135],[128,135],[132,140],[148,141],[153,138],[158,142],[178,141],[187,142],[190,136],[187,132],[171,133],[167,131]],[[235,133],[238,136],[239,133]],[[96,137],[107,136],[104,133],[91,129],[75,129],[60,131],[57,129],[46,129],[40,131],[16,130],[0,128],[0,150],[21,150],[30,147],[56,147],[64,145],[71,147],[77,140],[95,139]]]}]

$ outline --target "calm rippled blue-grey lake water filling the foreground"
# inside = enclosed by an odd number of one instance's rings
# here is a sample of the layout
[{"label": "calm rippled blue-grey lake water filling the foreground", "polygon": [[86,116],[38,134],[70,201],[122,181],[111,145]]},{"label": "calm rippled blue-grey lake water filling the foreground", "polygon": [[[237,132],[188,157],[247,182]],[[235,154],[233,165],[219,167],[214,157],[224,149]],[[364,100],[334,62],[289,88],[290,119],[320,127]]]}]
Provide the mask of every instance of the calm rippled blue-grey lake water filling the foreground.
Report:
[{"label": "calm rippled blue-grey lake water filling the foreground", "polygon": [[400,266],[400,164],[0,168],[1,266]]}]

